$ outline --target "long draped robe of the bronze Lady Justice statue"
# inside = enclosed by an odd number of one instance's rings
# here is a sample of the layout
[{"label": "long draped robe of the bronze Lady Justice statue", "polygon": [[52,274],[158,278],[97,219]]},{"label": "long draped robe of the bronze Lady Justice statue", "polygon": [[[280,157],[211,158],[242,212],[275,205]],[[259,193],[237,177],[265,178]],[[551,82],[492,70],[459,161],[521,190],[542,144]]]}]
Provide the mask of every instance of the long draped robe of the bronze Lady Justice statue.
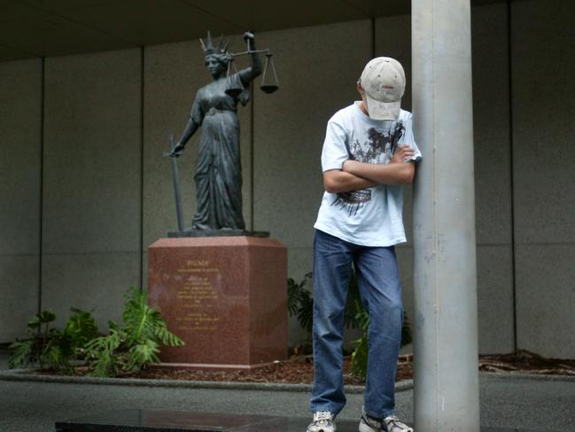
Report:
[{"label": "long draped robe of the bronze Lady Justice statue", "polygon": [[199,230],[245,229],[237,98],[225,90],[225,79],[210,82],[198,90],[191,108],[193,121],[202,129],[192,221]]}]

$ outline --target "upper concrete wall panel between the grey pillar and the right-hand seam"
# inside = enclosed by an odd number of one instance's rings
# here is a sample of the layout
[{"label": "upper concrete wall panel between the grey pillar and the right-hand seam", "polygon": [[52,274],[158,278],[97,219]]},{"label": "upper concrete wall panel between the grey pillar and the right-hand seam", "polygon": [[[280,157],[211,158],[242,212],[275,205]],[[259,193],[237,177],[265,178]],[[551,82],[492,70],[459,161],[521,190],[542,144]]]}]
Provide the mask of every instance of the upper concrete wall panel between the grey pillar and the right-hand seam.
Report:
[{"label": "upper concrete wall panel between the grey pillar and the right-hand seam", "polygon": [[[479,245],[510,244],[511,142],[507,5],[474,7],[472,36],[477,241]],[[511,271],[511,268],[508,270]]]}]

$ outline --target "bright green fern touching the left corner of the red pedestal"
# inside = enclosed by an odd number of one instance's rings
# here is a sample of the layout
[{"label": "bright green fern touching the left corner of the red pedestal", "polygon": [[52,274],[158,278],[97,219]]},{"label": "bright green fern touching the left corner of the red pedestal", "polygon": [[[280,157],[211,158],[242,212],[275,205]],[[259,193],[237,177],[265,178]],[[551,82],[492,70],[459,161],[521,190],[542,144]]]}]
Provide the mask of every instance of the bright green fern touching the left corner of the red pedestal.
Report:
[{"label": "bright green fern touching the left corner of the red pedestal", "polygon": [[124,326],[110,323],[110,332],[86,346],[90,374],[115,376],[120,370],[139,370],[159,363],[159,343],[179,347],[184,342],[167,329],[158,310],[148,306],[148,296],[136,287],[125,295]]}]

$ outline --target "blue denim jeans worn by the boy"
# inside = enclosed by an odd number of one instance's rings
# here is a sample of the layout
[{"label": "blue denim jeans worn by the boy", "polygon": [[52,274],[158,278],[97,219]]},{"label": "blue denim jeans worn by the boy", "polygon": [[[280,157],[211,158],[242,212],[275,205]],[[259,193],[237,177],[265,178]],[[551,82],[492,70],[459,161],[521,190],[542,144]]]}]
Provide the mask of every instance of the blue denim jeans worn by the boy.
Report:
[{"label": "blue denim jeans worn by the boy", "polygon": [[395,247],[365,247],[315,231],[314,364],[311,411],[338,414],[344,393],[344,310],[351,267],[369,313],[365,411],[383,418],[395,412],[395,373],[400,353],[403,304]]}]

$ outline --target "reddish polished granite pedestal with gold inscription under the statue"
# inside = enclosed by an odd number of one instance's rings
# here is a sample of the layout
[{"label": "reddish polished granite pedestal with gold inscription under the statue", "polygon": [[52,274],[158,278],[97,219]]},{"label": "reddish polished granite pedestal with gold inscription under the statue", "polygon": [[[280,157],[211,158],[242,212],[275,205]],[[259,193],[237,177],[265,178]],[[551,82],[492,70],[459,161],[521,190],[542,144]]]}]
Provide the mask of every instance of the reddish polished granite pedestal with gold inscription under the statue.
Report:
[{"label": "reddish polished granite pedestal with gold inscription under the statue", "polygon": [[277,240],[160,239],[148,250],[149,302],[186,342],[162,365],[251,369],[287,357],[287,252]]}]

